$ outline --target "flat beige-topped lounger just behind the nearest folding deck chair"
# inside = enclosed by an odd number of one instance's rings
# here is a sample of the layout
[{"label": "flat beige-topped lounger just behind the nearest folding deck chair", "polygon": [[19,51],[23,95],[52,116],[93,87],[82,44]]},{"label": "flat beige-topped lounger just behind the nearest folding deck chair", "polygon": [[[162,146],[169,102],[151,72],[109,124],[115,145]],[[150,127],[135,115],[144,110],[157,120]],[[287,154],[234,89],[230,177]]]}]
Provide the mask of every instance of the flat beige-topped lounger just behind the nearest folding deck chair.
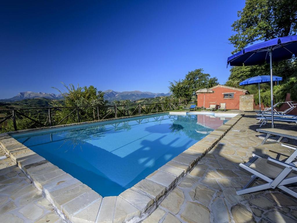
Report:
[{"label": "flat beige-topped lounger just behind the nearest folding deck chair", "polygon": [[[280,128],[263,128],[263,129],[258,128],[258,129],[256,129],[256,131],[267,134],[265,139],[262,141],[261,145],[268,144],[268,143],[279,143],[282,140],[283,137],[297,140],[297,131],[280,129]],[[266,140],[271,135],[280,136],[279,140],[277,140],[276,142],[266,142]]]}]

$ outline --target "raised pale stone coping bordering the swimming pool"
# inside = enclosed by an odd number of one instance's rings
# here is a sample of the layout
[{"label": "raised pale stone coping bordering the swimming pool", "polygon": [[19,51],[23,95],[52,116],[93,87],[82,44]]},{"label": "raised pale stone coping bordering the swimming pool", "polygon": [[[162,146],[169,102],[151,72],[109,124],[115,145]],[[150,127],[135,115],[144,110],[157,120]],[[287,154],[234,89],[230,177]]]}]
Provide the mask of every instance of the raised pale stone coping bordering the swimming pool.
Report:
[{"label": "raised pale stone coping bordering the swimming pool", "polygon": [[[244,113],[237,113],[235,117],[232,117],[225,124],[118,196],[104,198],[89,186],[73,178],[18,142],[9,135],[12,132],[0,134],[0,146],[32,180],[37,189],[43,192],[60,216],[68,222],[139,222],[157,208],[157,205],[162,202],[167,194],[176,187],[180,180],[195,167],[195,164],[225,136],[243,115]],[[94,122],[98,121],[87,123]],[[67,126],[75,124],[82,123]],[[78,187],[80,188],[77,189]],[[61,194],[56,194],[58,190],[62,190]],[[71,190],[78,190],[75,195],[69,194],[69,196],[73,196],[73,199],[67,202],[64,202],[65,200],[60,201],[61,197],[67,195],[67,192],[69,193]],[[60,200],[57,200],[57,198]],[[64,199],[69,199],[69,197],[66,196]],[[111,211],[110,208],[112,208]]]}]

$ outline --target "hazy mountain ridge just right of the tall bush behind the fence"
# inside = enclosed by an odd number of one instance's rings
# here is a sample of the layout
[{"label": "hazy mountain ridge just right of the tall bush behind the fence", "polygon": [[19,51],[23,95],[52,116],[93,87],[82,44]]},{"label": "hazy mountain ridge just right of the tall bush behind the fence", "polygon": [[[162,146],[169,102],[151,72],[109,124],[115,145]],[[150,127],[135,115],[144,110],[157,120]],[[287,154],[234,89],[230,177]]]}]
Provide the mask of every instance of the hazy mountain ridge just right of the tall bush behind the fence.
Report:
[{"label": "hazy mountain ridge just right of the tall bush behind the fence", "polygon": [[155,98],[155,97],[161,97],[161,96],[170,96],[171,93],[152,93],[152,92],[141,92],[141,91],[113,91],[113,90],[107,90],[105,91],[104,98],[106,100],[112,101],[112,100],[138,100],[140,98]]}]

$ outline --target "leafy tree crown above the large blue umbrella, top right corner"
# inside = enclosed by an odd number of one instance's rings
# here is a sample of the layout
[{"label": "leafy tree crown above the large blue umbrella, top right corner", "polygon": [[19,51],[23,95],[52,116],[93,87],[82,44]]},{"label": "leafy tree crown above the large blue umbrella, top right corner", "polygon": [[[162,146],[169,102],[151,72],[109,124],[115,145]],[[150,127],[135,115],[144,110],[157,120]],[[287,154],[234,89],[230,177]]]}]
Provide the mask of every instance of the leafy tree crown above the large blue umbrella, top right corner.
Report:
[{"label": "leafy tree crown above the large blue umbrella, top right corner", "polygon": [[259,40],[270,40],[296,34],[296,0],[246,0],[232,24],[236,34],[229,38],[233,53]]}]

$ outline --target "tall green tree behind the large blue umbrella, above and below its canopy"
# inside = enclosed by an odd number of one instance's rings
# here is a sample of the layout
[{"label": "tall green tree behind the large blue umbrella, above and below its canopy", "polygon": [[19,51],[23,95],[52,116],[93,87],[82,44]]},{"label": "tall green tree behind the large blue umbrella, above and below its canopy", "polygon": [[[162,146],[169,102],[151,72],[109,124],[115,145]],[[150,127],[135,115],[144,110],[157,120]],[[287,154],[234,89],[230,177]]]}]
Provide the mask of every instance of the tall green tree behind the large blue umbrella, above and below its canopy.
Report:
[{"label": "tall green tree behind the large blue umbrella, above and below its canopy", "polygon": [[[297,32],[296,0],[247,0],[245,7],[238,11],[238,20],[232,24],[236,34],[229,38],[235,53],[257,41],[284,37]],[[296,59],[273,63],[273,72],[284,80],[296,76]],[[225,83],[239,87],[239,82],[257,75],[269,75],[269,64],[232,67]]]}]

